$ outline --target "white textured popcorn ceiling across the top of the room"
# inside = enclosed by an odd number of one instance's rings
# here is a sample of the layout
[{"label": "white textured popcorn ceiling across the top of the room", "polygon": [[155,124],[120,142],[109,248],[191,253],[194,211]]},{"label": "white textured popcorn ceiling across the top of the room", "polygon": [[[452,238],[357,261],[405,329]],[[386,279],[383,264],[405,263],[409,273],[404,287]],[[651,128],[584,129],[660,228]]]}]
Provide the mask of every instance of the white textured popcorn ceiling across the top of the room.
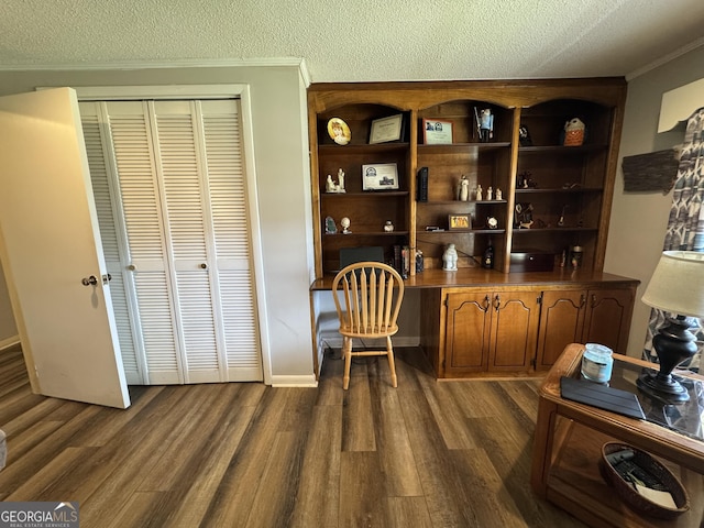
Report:
[{"label": "white textured popcorn ceiling across the top of the room", "polygon": [[4,0],[0,69],[296,57],[322,81],[632,77],[703,0]]}]

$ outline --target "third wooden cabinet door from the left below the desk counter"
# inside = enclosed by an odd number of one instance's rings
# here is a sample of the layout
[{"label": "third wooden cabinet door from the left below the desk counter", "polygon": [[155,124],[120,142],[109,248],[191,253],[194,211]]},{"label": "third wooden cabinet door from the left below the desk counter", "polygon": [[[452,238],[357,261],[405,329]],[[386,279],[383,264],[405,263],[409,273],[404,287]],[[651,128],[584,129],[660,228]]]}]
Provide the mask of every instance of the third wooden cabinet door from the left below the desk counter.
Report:
[{"label": "third wooden cabinet door from the left below the desk counter", "polygon": [[568,344],[582,340],[586,297],[587,293],[583,289],[543,292],[537,370],[550,369]]}]

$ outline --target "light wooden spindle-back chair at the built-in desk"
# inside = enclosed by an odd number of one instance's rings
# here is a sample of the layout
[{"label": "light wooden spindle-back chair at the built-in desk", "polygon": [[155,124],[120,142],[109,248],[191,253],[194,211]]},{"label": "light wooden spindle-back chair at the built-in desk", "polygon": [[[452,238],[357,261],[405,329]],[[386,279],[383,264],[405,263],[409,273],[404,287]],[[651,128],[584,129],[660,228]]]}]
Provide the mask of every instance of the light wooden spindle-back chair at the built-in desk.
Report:
[{"label": "light wooden spindle-back chair at the built-in desk", "polygon": [[[350,386],[352,356],[386,355],[392,386],[397,386],[392,336],[398,332],[396,319],[404,299],[404,280],[396,270],[378,262],[350,264],[332,282],[332,297],[340,319],[344,377]],[[342,302],[342,300],[344,302]],[[352,340],[386,338],[385,350],[352,351]]]}]

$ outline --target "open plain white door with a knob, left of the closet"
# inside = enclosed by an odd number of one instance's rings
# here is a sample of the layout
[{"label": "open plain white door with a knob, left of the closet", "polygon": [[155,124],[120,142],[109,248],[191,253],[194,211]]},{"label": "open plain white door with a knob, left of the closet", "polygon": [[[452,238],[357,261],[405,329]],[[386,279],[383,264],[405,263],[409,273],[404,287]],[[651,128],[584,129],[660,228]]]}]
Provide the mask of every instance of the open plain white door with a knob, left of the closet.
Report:
[{"label": "open plain white door with a knob, left of the closet", "polygon": [[0,97],[0,258],[32,387],[127,408],[99,237],[75,91]]}]

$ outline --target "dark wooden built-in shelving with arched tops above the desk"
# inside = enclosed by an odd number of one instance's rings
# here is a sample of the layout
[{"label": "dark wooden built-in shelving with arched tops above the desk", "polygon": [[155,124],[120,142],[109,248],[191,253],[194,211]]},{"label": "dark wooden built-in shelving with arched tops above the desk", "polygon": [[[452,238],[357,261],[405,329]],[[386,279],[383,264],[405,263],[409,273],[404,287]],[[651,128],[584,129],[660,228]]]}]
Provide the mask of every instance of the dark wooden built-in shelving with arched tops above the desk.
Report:
[{"label": "dark wooden built-in shelving with arched tops above the desk", "polygon": [[[581,245],[583,267],[601,272],[625,97],[620,78],[311,85],[316,277],[337,272],[344,246],[382,245],[391,260],[394,246],[407,245],[422,252],[430,270],[442,266],[450,242],[461,266],[477,265],[491,243],[494,270],[502,273],[509,271],[512,252],[549,253],[557,264],[564,249]],[[476,131],[475,111],[483,108],[494,114],[490,142],[481,142]],[[373,121],[399,113],[405,120],[399,141],[370,144]],[[327,123],[333,117],[348,123],[348,145],[330,139]],[[564,123],[574,117],[586,124],[584,144],[562,146]],[[452,122],[452,144],[425,144],[424,119]],[[520,127],[528,130],[530,145],[521,145]],[[382,163],[397,165],[398,190],[363,191],[362,166]],[[428,167],[428,201],[417,201],[421,167]],[[346,193],[326,193],[327,176],[334,178],[340,168]],[[517,183],[526,174],[529,188]],[[469,201],[457,199],[463,176],[470,182]],[[502,199],[474,200],[477,185],[484,197],[488,187],[501,189]],[[530,204],[530,229],[519,229],[517,204]],[[470,215],[472,229],[426,231],[428,226],[447,229],[448,215]],[[327,217],[338,226],[350,218],[353,234],[324,234]],[[485,229],[487,217],[497,219],[497,229]],[[387,220],[393,233],[383,231]]]}]

